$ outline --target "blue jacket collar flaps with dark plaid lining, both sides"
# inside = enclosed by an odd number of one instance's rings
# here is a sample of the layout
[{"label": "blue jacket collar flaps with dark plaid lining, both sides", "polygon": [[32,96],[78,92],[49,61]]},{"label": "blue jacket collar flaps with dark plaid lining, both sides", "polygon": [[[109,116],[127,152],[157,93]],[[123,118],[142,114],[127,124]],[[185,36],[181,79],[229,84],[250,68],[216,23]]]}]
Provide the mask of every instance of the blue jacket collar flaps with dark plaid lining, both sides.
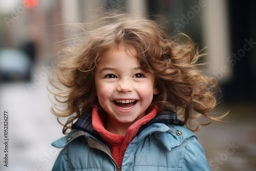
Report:
[{"label": "blue jacket collar flaps with dark plaid lining, both sides", "polygon": [[[167,150],[170,151],[172,147],[180,145],[185,138],[195,136],[193,132],[182,125],[184,125],[184,122],[177,119],[175,112],[163,111],[150,122],[143,125],[131,143],[137,142],[149,135],[155,141],[160,141]],[[89,110],[82,118],[79,118],[73,124],[72,129],[73,131],[69,135],[58,139],[53,142],[52,145],[57,148],[62,148],[80,136],[102,142],[101,137],[92,126],[92,110]],[[160,132],[164,134],[159,134]],[[181,132],[181,134],[178,134],[178,132]],[[175,137],[172,141],[170,141],[169,138],[165,138],[169,133]],[[159,137],[160,135],[163,137]]]}]

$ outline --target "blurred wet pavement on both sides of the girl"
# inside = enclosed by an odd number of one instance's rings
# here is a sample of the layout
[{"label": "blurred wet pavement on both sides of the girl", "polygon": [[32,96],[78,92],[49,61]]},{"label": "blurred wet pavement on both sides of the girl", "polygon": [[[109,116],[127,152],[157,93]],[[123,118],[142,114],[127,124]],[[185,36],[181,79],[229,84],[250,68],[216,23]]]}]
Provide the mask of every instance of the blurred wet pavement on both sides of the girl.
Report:
[{"label": "blurred wet pavement on both sides of the girl", "polygon": [[[62,136],[51,114],[45,81],[32,92],[26,83],[0,84],[0,170],[51,170],[59,150],[50,144]],[[225,124],[212,123],[197,132],[212,170],[256,170],[256,103],[221,104],[230,110]],[[8,111],[8,167],[4,166],[4,111]]]}]

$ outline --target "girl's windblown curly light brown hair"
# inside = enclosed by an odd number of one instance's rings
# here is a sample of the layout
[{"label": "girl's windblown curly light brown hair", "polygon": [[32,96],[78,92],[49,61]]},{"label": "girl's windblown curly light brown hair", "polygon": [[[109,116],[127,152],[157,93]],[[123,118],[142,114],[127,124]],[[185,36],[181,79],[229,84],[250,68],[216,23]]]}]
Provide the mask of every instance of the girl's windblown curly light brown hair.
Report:
[{"label": "girl's windblown curly light brown hair", "polygon": [[[135,48],[142,69],[155,75],[158,94],[153,103],[177,112],[186,126],[198,131],[201,125],[191,126],[191,120],[204,116],[221,122],[222,117],[212,117],[216,106],[217,80],[199,70],[198,59],[203,56],[199,48],[185,34],[186,41],[170,37],[153,20],[121,12],[104,12],[91,23],[77,24],[81,30],[69,42],[73,46],[61,49],[55,78],[50,79],[57,103],[52,112],[58,117],[69,117],[63,124],[63,133],[73,122],[85,114],[98,99],[95,94],[94,73],[101,57],[113,46]],[[75,42],[75,43],[74,43]],[[66,44],[65,44],[66,45]],[[59,109],[59,105],[64,109]],[[208,124],[206,123],[206,124]]]}]

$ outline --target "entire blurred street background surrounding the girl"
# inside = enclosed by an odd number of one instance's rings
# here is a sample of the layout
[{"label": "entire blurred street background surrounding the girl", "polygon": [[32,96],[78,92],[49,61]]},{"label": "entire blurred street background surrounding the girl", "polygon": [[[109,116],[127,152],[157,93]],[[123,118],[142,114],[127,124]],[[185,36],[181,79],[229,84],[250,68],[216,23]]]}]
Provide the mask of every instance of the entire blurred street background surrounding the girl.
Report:
[{"label": "entire blurred street background surrounding the girl", "polygon": [[51,170],[59,149],[50,144],[62,136],[46,89],[53,47],[76,34],[62,24],[86,22],[90,10],[102,5],[140,12],[169,33],[184,32],[208,47],[203,70],[222,90],[216,112],[230,114],[225,124],[212,123],[196,134],[212,170],[255,170],[256,1],[249,0],[0,0],[0,170]]}]

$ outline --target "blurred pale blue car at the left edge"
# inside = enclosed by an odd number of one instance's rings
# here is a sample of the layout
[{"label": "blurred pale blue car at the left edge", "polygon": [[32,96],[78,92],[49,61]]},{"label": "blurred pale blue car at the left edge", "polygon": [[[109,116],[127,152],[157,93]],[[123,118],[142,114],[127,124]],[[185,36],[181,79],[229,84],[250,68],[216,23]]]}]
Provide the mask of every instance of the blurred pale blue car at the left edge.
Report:
[{"label": "blurred pale blue car at the left edge", "polygon": [[33,63],[30,57],[22,50],[2,49],[0,50],[0,79],[30,80]]}]

